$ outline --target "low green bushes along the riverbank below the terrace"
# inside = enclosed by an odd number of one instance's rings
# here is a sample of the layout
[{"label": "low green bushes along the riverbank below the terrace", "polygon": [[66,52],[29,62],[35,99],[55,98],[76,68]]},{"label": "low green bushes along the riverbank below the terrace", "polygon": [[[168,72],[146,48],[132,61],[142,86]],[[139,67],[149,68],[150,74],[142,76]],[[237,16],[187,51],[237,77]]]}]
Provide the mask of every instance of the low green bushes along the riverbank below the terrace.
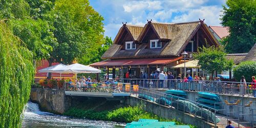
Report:
[{"label": "low green bushes along the riverbank below the terrace", "polygon": [[[174,121],[177,125],[186,125],[175,119],[164,119],[153,113],[145,112],[142,105],[137,106],[124,106],[115,110],[95,111],[95,110],[82,110],[78,108],[71,108],[63,115],[73,116],[76,118],[87,118],[93,120],[106,120],[115,122],[129,123],[138,121],[139,119],[157,119],[159,121]],[[195,127],[189,125],[190,127]]]}]

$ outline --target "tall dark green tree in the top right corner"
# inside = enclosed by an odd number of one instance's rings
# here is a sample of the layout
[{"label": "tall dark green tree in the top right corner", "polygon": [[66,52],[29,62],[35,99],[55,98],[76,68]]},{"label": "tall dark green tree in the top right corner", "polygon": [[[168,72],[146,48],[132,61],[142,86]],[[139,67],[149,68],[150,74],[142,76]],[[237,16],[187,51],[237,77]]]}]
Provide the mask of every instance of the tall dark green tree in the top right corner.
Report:
[{"label": "tall dark green tree in the top right corner", "polygon": [[222,44],[228,53],[247,53],[256,42],[256,1],[227,0],[226,4],[221,24],[229,27],[230,34]]}]

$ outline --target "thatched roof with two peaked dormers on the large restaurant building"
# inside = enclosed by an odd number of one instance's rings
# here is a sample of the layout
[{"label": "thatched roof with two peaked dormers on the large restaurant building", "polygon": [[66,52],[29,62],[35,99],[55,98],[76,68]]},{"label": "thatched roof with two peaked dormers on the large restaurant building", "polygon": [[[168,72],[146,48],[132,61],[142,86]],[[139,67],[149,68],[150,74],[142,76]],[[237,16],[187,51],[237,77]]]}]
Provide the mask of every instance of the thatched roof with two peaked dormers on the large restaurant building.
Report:
[{"label": "thatched roof with two peaked dormers on the large restaurant building", "polygon": [[[153,26],[154,31],[161,39],[168,40],[164,46],[160,49],[148,49],[146,43],[141,43],[147,27]],[[122,30],[126,27],[132,33],[134,39],[139,42],[136,50],[122,50],[122,45],[115,43],[118,36],[120,36]],[[215,45],[219,45],[219,41],[212,35],[207,25],[202,21],[179,23],[179,24],[167,24],[167,23],[155,23],[148,22],[142,29],[141,26],[124,25],[120,28],[113,46],[111,46],[101,58],[113,59],[113,58],[141,58],[141,57],[170,57],[179,56],[182,50],[186,47],[189,40],[195,35],[195,33],[203,28]],[[140,34],[138,35],[138,33]]]}]

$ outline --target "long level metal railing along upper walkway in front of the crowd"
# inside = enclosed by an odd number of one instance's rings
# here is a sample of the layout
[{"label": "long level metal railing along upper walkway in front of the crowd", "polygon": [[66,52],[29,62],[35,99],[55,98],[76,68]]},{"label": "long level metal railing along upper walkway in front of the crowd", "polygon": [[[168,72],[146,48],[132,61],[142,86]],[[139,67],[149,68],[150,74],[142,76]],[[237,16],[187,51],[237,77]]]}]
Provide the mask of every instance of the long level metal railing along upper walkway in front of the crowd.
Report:
[{"label": "long level metal railing along upper walkway in front of the crowd", "polygon": [[[241,82],[211,81],[211,80],[184,80],[184,79],[116,79],[118,82],[126,82],[152,89],[175,89],[184,91],[210,92],[225,95],[254,96],[256,89],[247,82],[247,87],[240,86]],[[242,92],[244,88],[245,92]]]}]

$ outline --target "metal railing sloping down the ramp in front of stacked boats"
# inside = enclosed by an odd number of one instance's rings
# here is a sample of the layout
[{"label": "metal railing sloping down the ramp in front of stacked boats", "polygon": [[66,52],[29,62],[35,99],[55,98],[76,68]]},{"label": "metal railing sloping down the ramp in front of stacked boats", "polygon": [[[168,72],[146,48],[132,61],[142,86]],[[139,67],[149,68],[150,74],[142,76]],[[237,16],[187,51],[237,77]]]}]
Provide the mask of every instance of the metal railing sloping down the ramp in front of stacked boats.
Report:
[{"label": "metal railing sloping down the ramp in front of stacked boats", "polygon": [[216,113],[218,111],[223,111],[223,109],[216,109],[216,105],[223,104],[223,102],[215,103],[215,108],[210,108],[209,106],[195,101],[148,88],[138,87],[136,90],[133,85],[131,85],[131,95],[167,106],[170,109],[189,113],[193,115],[194,118],[200,118],[207,122],[214,123],[215,126],[217,126],[217,123],[219,122],[219,119],[216,117]]}]

